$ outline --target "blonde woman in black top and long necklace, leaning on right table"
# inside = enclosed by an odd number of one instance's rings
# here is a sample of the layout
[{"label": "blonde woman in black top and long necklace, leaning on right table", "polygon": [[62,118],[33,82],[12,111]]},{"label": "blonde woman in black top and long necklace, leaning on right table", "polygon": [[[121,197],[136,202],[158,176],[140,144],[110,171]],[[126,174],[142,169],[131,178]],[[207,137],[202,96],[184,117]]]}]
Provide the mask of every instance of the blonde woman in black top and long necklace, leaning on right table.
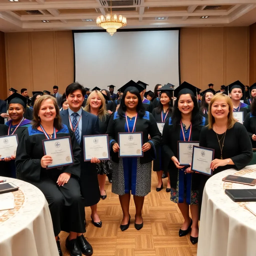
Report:
[{"label": "blonde woman in black top and long necklace, leaning on right table", "polygon": [[[200,133],[200,146],[214,149],[211,162],[213,175],[223,170],[240,170],[252,159],[252,143],[246,128],[233,117],[231,99],[225,94],[211,98],[208,109],[208,125]],[[199,214],[204,186],[209,176],[200,174]]]}]

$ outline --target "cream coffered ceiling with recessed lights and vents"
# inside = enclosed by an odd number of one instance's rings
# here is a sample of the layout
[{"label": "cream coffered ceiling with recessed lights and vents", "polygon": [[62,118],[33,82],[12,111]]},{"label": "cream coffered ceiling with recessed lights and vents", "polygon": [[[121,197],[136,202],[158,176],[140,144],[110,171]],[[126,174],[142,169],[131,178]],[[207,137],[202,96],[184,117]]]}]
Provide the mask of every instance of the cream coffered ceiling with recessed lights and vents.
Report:
[{"label": "cream coffered ceiling with recessed lights and vents", "polygon": [[[249,26],[256,22],[256,0],[113,0],[112,6],[113,13],[127,18],[126,28]],[[96,18],[109,13],[109,7],[109,0],[0,0],[0,30],[98,29]]]}]

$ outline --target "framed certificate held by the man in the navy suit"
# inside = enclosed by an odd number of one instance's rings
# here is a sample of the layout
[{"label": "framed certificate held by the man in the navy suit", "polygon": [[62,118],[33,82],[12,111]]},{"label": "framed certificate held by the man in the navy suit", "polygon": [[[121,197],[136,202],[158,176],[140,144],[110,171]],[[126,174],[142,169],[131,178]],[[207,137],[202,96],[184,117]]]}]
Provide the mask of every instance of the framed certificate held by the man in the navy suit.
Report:
[{"label": "framed certificate held by the man in the navy suit", "polygon": [[83,136],[83,156],[84,161],[91,161],[93,157],[100,160],[109,160],[109,136],[102,135],[84,135]]}]

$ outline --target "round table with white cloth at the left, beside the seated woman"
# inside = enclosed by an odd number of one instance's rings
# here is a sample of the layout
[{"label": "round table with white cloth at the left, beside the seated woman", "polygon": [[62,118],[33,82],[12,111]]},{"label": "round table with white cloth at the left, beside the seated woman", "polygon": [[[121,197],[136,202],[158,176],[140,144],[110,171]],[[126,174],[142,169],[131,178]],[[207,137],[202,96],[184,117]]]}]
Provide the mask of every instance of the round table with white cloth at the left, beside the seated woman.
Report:
[{"label": "round table with white cloth at the left, beside the seated woman", "polygon": [[0,194],[0,204],[14,199],[14,209],[0,211],[0,255],[59,256],[44,194],[30,183],[6,179],[19,190]]}]

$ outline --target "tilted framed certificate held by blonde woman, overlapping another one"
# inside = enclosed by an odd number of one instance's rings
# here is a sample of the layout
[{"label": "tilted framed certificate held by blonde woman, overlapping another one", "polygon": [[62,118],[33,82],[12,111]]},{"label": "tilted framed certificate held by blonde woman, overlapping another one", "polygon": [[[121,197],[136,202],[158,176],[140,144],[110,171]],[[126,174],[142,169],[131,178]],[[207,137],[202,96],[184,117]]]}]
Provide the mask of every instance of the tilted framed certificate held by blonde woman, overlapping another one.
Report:
[{"label": "tilted framed certificate held by blonde woman, overlapping another one", "polygon": [[211,161],[214,159],[214,149],[193,147],[191,170],[208,176],[212,175]]}]

